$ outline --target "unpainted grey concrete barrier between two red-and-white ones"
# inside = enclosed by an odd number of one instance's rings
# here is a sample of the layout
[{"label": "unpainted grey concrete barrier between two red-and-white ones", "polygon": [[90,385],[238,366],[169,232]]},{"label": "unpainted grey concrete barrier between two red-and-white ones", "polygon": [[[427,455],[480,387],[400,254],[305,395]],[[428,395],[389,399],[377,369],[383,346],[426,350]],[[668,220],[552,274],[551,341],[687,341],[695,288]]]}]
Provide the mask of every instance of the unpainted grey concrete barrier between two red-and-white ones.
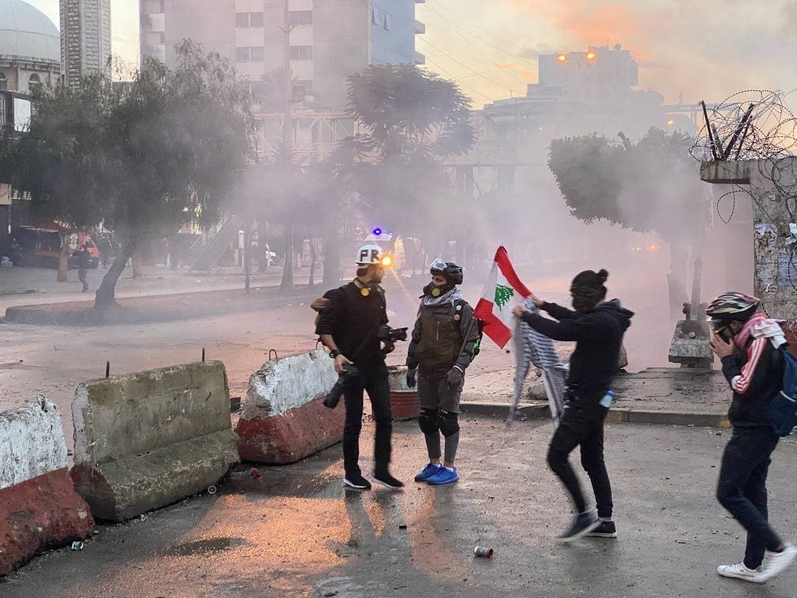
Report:
[{"label": "unpainted grey concrete barrier between two red-and-white ones", "polygon": [[122,521],[196,494],[238,461],[220,361],[84,382],[72,417],[72,478],[99,519]]}]

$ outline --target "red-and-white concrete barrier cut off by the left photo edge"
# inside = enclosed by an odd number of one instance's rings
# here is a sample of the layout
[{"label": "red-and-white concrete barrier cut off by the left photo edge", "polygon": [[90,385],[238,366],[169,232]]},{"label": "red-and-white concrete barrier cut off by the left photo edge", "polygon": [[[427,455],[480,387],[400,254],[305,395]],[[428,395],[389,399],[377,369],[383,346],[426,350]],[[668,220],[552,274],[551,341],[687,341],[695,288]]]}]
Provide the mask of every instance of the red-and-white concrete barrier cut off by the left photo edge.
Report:
[{"label": "red-and-white concrete barrier cut off by the left photo edge", "polygon": [[0,413],[0,575],[93,529],[69,478],[58,407],[41,397]]}]

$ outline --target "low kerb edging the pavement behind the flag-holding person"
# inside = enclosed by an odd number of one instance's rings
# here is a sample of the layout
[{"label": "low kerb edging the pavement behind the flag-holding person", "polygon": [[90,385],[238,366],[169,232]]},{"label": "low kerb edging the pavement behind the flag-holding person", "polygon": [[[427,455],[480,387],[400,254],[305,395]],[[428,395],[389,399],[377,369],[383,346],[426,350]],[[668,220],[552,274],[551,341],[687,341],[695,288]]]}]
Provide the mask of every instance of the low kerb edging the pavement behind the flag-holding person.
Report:
[{"label": "low kerb edging the pavement behind the flag-holding person", "polygon": [[[461,403],[461,412],[466,415],[498,417],[504,419],[508,414],[508,403]],[[551,410],[547,405],[526,405],[518,411],[529,419],[550,419]],[[607,423],[647,423],[659,426],[731,427],[726,415],[717,413],[681,413],[678,411],[642,411],[615,408],[607,414]]]}]

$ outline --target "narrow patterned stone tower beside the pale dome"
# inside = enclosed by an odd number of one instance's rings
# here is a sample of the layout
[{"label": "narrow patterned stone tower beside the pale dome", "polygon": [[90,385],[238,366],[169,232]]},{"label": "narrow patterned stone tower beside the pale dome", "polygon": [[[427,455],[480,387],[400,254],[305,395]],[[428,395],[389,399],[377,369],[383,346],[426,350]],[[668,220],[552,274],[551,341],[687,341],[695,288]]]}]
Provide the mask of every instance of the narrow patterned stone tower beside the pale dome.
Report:
[{"label": "narrow patterned stone tower beside the pale dome", "polygon": [[61,78],[111,76],[111,0],[61,0]]}]

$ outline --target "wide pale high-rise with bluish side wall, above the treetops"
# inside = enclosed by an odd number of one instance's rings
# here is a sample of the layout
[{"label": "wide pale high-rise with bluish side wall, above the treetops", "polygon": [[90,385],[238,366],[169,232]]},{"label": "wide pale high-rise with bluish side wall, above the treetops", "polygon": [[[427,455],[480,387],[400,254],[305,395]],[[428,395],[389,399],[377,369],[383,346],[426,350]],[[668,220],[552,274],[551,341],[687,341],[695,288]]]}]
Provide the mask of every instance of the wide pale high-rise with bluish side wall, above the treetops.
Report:
[{"label": "wide pale high-rise with bluish side wall, above the treetops", "polygon": [[175,63],[175,45],[202,42],[233,61],[252,81],[285,64],[285,2],[289,10],[287,51],[294,98],[340,111],[346,78],[368,65],[423,64],[415,52],[415,4],[423,0],[139,0],[142,56]]}]

